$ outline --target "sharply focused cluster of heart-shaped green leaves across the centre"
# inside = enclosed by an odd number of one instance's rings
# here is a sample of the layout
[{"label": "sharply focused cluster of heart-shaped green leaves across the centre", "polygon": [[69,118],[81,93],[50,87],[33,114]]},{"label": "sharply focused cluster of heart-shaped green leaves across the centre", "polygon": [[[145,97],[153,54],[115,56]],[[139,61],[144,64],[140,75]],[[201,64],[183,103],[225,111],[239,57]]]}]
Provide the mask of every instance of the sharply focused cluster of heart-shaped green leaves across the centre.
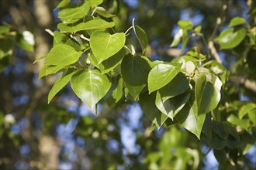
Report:
[{"label": "sharply focused cluster of heart-shaped green leaves across the centre", "polygon": [[[101,1],[85,1],[80,5],[61,2],[54,46],[41,57],[46,59],[40,77],[62,73],[54,83],[48,102],[68,83],[74,93],[89,107],[103,97],[108,104],[126,100],[140,102],[144,114],[157,128],[165,121],[183,127],[198,138],[206,113],[220,101],[222,82],[201,66],[206,56],[192,49],[185,56],[166,63],[137,55],[132,45],[125,45],[126,33],[115,32],[112,14]],[[183,34],[192,29],[181,22]],[[147,46],[143,29],[131,27],[140,42],[142,53]],[[195,29],[197,30],[197,29]],[[127,30],[128,31],[128,30]]]}]

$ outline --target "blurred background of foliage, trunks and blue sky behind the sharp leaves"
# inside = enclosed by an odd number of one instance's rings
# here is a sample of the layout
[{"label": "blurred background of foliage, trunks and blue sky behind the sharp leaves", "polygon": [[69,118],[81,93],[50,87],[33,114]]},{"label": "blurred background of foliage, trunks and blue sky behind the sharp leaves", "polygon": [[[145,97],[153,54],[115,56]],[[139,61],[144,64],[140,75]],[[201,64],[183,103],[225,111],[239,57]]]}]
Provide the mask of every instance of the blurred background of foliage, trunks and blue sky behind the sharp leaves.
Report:
[{"label": "blurred background of foliage, trunks and blue sky behind the sharp leaves", "polygon": [[[213,152],[208,146],[221,145],[219,141],[206,144],[207,140],[199,141],[177,125],[150,132],[150,121],[142,115],[139,104],[118,107],[99,104],[95,116],[94,110],[81,103],[69,86],[47,104],[48,91],[57,77],[38,80],[42,63],[33,65],[33,62],[47,54],[52,46],[53,37],[45,29],[57,29],[58,11],[54,8],[58,3],[57,0],[0,1],[1,26],[5,25],[0,27],[0,49],[8,52],[0,57],[1,169],[218,168],[213,155],[225,168],[256,168],[255,139],[249,133],[240,138],[244,150],[254,145],[248,154],[226,158],[224,150]],[[223,10],[223,5],[227,9]],[[193,26],[202,26],[204,36],[210,40],[226,29],[235,16],[244,17],[253,25],[253,19],[247,15],[250,5],[255,8],[250,0],[106,0],[102,7],[116,14],[113,20],[119,32],[125,32],[135,18],[136,24],[147,32],[147,56],[170,61],[181,48],[181,45],[170,48],[178,32],[178,20],[189,19]],[[222,22],[214,30],[218,17]],[[127,38],[130,38],[126,40],[128,43],[137,42],[134,35]],[[189,42],[188,46],[195,46],[193,43]],[[139,49],[138,42],[136,45]],[[202,39],[199,46],[207,53]],[[250,51],[244,60],[240,57],[243,49],[238,46],[219,53],[223,66],[234,75],[225,93],[230,101],[236,100],[230,103],[229,110],[223,108],[223,113],[237,111],[243,102],[256,100],[254,83],[251,83],[256,80],[255,51]],[[218,126],[213,131],[222,131]],[[238,162],[236,166],[234,162]]]}]

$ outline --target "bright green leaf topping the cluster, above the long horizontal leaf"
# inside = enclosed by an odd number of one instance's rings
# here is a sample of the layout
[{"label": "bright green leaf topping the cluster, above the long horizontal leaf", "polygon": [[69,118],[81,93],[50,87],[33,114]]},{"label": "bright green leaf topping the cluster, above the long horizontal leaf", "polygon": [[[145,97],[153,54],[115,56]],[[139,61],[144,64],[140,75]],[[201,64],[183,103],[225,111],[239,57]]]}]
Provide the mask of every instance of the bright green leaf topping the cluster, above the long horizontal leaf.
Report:
[{"label": "bright green leaf topping the cluster, above the long horizontal leaf", "polygon": [[89,9],[90,6],[88,3],[83,3],[82,5],[74,8],[64,8],[59,12],[59,18],[62,22],[74,23],[79,19],[84,18],[89,12]]}]

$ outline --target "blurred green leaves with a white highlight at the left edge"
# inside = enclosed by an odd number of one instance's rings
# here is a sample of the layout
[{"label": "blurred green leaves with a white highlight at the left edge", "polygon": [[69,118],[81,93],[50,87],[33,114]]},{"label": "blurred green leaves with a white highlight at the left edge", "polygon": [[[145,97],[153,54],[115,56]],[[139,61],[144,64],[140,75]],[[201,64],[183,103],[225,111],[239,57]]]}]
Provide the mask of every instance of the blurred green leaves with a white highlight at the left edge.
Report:
[{"label": "blurred green leaves with a white highlight at the left edge", "polygon": [[15,31],[13,26],[0,26],[0,73],[12,63],[15,46],[26,51],[33,51],[33,34],[29,31]]}]

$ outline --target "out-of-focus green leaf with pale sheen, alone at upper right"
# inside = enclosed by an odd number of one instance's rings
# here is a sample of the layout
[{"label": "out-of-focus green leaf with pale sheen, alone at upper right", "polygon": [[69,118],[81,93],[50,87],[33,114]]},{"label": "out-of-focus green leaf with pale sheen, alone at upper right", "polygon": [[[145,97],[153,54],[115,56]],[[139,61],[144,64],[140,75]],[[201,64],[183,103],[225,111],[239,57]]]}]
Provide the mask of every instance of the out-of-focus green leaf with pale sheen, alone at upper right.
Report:
[{"label": "out-of-focus green leaf with pale sheen, alone at upper right", "polygon": [[220,49],[232,49],[240,44],[246,36],[246,29],[238,29],[234,31],[234,28],[226,29],[220,33],[216,39],[216,42],[220,43]]}]

